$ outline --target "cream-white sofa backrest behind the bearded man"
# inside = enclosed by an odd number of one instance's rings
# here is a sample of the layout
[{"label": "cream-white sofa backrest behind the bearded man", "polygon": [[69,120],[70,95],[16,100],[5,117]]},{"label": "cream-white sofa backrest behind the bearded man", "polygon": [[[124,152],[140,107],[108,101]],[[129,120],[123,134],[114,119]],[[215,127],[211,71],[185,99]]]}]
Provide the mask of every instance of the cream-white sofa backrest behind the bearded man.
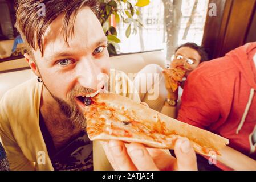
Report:
[{"label": "cream-white sofa backrest behind the bearded man", "polygon": [[[162,51],[151,51],[111,57],[111,68],[118,69],[127,74],[137,73],[148,64],[158,64],[162,68],[166,67],[164,53]],[[15,67],[16,65],[18,67]],[[0,99],[7,90],[35,77],[31,69],[11,71],[11,69],[26,67],[28,65],[24,59],[0,62]],[[9,72],[6,72],[6,70],[9,70]]]}]

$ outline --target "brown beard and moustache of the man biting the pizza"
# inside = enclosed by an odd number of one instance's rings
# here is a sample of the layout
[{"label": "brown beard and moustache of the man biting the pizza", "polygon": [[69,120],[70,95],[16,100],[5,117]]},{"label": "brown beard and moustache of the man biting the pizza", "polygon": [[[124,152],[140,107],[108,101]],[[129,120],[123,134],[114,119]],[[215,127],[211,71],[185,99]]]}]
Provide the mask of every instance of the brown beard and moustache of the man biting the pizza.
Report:
[{"label": "brown beard and moustache of the man biting the pizza", "polygon": [[[44,84],[44,86],[46,86]],[[48,92],[50,90],[46,87]],[[72,125],[74,125],[77,129],[86,131],[86,118],[84,117],[84,114],[82,111],[80,111],[78,105],[76,104],[75,98],[80,93],[90,93],[94,92],[93,89],[83,88],[82,86],[75,86],[70,93],[67,94],[67,101],[64,101],[62,98],[59,98],[55,96],[54,94],[51,94],[52,98],[56,102],[58,102],[60,110],[66,117],[72,122]]]}]

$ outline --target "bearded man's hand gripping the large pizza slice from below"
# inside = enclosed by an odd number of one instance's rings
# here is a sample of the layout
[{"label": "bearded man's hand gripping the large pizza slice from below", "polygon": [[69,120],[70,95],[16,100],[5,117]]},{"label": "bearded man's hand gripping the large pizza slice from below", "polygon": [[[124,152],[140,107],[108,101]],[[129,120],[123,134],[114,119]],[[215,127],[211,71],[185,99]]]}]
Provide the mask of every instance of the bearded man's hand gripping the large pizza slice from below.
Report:
[{"label": "bearded man's hand gripping the large pizza slice from below", "polygon": [[178,139],[174,158],[166,150],[146,148],[143,144],[111,140],[102,142],[112,167],[121,171],[192,171],[197,170],[196,153],[187,139]]}]

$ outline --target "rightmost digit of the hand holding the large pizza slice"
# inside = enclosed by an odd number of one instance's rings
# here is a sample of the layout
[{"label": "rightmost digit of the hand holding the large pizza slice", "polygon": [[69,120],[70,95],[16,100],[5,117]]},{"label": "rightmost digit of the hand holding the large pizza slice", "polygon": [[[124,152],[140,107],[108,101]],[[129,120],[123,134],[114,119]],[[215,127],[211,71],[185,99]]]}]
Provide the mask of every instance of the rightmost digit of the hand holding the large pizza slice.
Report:
[{"label": "rightmost digit of the hand holding the large pizza slice", "polygon": [[194,152],[188,139],[178,139],[175,143],[174,152],[177,158],[178,171],[197,170],[196,152]]}]

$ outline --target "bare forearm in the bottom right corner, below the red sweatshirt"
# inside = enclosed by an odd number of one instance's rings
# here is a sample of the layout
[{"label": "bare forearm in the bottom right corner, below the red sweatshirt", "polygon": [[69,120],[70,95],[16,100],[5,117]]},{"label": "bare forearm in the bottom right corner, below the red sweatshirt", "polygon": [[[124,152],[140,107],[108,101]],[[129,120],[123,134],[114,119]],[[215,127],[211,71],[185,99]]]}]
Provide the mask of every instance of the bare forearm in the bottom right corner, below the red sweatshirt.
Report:
[{"label": "bare forearm in the bottom right corner, below the red sweatshirt", "polygon": [[231,147],[224,147],[220,150],[220,153],[221,156],[217,156],[217,161],[231,169],[234,169],[235,171],[256,170],[256,160],[249,158]]}]

